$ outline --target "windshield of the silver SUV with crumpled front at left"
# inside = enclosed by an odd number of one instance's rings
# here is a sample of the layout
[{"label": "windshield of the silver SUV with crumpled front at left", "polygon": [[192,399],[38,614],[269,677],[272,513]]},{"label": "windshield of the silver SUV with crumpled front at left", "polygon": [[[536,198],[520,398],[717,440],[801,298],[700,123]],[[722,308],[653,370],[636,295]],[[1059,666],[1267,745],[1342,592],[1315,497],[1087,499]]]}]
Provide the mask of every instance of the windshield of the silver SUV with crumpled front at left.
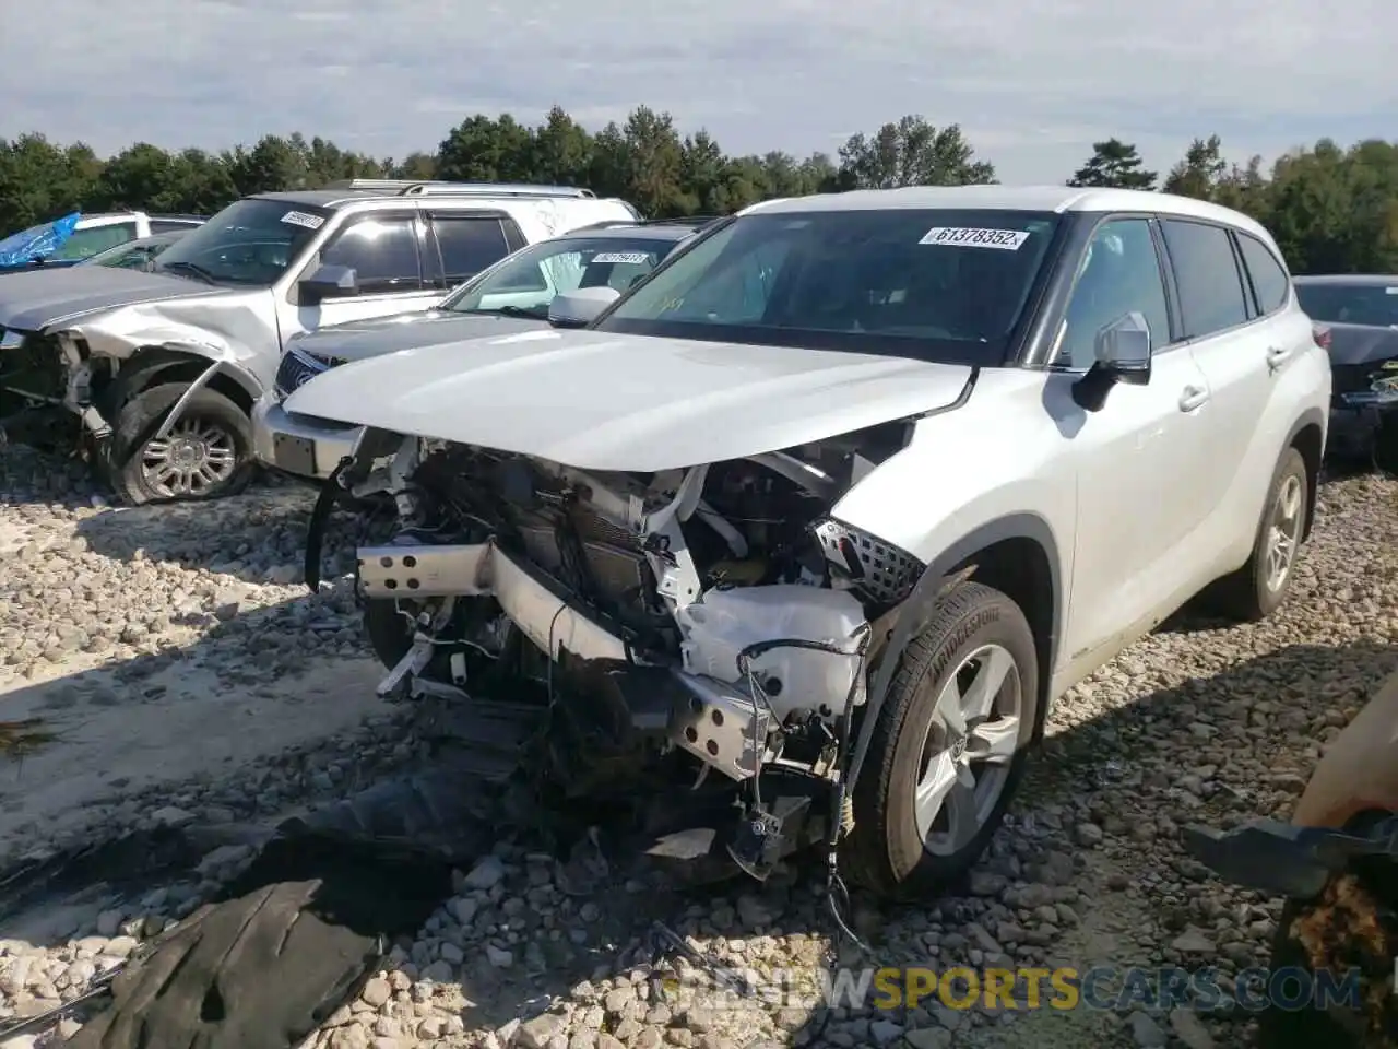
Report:
[{"label": "windshield of the silver SUV with crumpled front at left", "polygon": [[315,239],[327,213],[277,200],[239,200],[172,243],[159,273],[211,284],[275,283]]}]

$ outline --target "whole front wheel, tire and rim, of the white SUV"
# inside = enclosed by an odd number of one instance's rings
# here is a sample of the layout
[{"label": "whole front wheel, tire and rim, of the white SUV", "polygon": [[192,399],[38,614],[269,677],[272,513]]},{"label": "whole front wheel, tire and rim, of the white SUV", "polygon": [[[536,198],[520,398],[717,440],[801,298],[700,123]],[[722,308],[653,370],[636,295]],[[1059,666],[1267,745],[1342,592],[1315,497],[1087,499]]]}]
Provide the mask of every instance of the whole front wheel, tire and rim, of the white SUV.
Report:
[{"label": "whole front wheel, tire and rim, of the white SUV", "polygon": [[1039,713],[1039,659],[1019,606],[962,583],[902,653],[854,787],[856,881],[907,899],[955,881],[1009,806]]}]

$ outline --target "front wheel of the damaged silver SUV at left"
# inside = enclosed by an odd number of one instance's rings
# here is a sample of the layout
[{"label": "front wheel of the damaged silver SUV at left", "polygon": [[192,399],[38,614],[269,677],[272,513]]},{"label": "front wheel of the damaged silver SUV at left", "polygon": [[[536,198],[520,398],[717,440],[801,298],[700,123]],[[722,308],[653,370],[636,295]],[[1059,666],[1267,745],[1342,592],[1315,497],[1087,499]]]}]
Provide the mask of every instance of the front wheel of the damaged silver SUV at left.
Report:
[{"label": "front wheel of the damaged silver SUV at left", "polygon": [[217,499],[242,491],[252,480],[252,421],[217,390],[197,390],[171,432],[157,436],[187,389],[162,383],[122,406],[110,477],[127,505]]}]

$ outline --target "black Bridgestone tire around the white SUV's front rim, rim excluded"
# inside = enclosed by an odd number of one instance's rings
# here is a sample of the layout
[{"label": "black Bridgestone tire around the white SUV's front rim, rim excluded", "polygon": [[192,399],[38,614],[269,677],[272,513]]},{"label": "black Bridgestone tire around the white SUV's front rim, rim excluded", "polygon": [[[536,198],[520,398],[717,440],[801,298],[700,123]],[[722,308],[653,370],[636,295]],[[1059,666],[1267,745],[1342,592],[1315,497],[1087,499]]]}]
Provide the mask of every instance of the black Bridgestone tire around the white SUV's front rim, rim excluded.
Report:
[{"label": "black Bridgestone tire around the white SUV's front rim, rim excluded", "polygon": [[[923,848],[913,814],[921,743],[946,681],[976,649],[988,643],[1009,652],[1019,671],[1019,745],[990,817],[958,852],[935,856]],[[1039,662],[1023,613],[1000,590],[962,583],[941,601],[927,628],[909,642],[878,712],[854,786],[854,831],[842,855],[850,878],[888,899],[916,899],[965,876],[1014,797],[1037,713]]]}]

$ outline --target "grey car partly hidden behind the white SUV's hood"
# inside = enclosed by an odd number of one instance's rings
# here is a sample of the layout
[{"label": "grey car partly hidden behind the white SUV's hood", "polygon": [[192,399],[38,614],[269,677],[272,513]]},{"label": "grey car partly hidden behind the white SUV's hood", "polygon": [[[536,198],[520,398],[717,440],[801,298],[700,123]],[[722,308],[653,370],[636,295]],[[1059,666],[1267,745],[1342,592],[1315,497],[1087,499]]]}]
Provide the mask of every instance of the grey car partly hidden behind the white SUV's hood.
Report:
[{"label": "grey car partly hidden behind the white SUV's hood", "polygon": [[[607,222],[520,249],[463,284],[433,309],[334,324],[287,345],[274,387],[253,410],[259,462],[323,481],[354,450],[359,428],[288,413],[281,401],[338,365],[397,350],[566,326],[559,295],[625,291],[712,220]],[[552,313],[552,315],[551,315]]]}]

